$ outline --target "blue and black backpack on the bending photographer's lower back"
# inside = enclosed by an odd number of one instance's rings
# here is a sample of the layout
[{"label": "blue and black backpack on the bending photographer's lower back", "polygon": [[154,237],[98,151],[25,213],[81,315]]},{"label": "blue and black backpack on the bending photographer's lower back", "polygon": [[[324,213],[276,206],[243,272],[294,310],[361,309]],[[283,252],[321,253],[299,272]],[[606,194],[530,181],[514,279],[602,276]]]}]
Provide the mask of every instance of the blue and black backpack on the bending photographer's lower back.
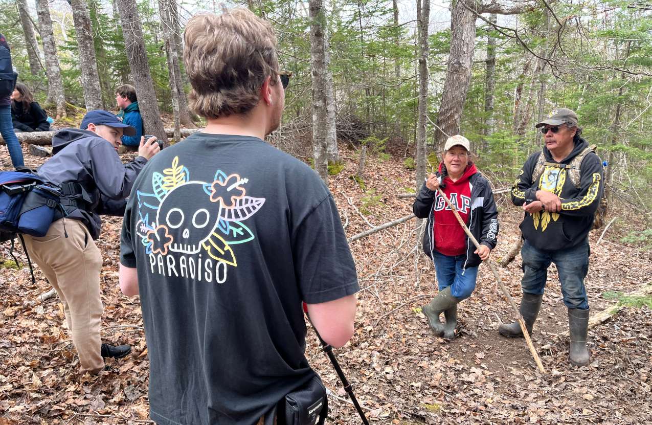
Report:
[{"label": "blue and black backpack on the bending photographer's lower back", "polygon": [[35,282],[34,271],[23,234],[44,237],[54,220],[66,216],[63,200],[59,186],[47,183],[36,174],[0,172],[0,242],[11,241],[10,254],[18,265],[14,256],[14,239],[18,236],[27,256],[32,282]]}]

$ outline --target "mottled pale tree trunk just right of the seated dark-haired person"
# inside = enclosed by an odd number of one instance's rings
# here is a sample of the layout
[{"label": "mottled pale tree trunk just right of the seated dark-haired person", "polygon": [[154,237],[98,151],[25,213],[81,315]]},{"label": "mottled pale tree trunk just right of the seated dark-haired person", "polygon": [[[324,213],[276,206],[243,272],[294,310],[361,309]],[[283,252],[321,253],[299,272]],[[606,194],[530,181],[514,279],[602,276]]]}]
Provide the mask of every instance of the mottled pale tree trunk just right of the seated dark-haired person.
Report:
[{"label": "mottled pale tree trunk just right of the seated dark-haired person", "polygon": [[41,40],[43,41],[43,53],[45,56],[45,71],[48,76],[48,100],[46,104],[57,105],[57,119],[67,116],[66,96],[63,94],[63,82],[61,81],[61,68],[57,59],[57,46],[54,42],[52,31],[52,18],[48,0],[36,0],[38,26],[40,27]]}]

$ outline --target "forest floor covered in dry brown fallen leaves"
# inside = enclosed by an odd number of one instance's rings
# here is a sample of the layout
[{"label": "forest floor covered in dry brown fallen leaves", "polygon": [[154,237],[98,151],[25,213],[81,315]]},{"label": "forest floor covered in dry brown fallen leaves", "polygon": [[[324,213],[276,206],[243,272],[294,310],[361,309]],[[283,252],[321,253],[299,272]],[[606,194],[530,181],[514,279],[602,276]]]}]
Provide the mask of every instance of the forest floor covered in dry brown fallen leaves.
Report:
[{"label": "forest floor covered in dry brown fallen leaves", "polygon": [[[357,153],[342,148],[342,156],[345,168],[331,176],[330,188],[349,237],[411,212],[412,200],[396,196],[415,185],[414,171],[403,166],[400,153],[385,160],[368,156],[366,190],[349,178],[357,168]],[[26,152],[25,160],[34,167],[42,162]],[[6,147],[0,147],[0,167],[10,168]],[[494,183],[496,189],[505,187]],[[496,199],[501,230],[492,259],[502,257],[516,240],[522,216],[509,203],[509,194]],[[630,293],[652,281],[649,250],[621,242],[627,231],[641,226],[634,213],[613,207],[607,222],[614,216],[619,220],[604,240],[597,244],[601,232],[589,237],[586,287],[594,314],[619,302],[610,292]],[[98,241],[104,256],[102,338],[131,344],[133,350],[125,359],[108,359],[111,370],[97,376],[79,372],[57,297],[38,300],[50,289],[42,272],[35,269],[37,284],[31,284],[24,257],[20,268],[12,267],[5,243],[0,269],[0,425],[151,423],[140,305],[118,286],[120,227],[121,218],[106,219]],[[533,334],[547,371],[541,374],[524,340],[497,333],[501,321],[512,321],[514,314],[485,265],[475,293],[460,304],[458,338],[446,342],[433,336],[421,306],[436,293],[434,267],[417,251],[414,227],[410,220],[351,242],[363,289],[355,335],[336,355],[373,424],[652,423],[649,298],[647,306],[625,306],[589,330],[591,362],[577,368],[567,360],[567,312],[551,267]],[[22,248],[18,252],[22,254]],[[518,304],[520,256],[499,272]],[[307,340],[308,360],[332,392],[329,422],[360,423],[314,332]]]}]

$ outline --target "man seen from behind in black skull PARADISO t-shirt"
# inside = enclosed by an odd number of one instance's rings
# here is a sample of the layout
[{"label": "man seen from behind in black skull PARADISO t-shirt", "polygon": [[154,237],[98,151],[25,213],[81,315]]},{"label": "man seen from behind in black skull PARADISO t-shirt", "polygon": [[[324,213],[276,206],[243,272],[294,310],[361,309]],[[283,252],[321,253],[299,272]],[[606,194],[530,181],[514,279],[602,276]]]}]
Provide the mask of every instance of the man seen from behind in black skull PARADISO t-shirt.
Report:
[{"label": "man seen from behind in black skull PARADISO t-shirt", "polygon": [[120,285],[140,293],[151,418],[253,425],[315,375],[302,302],[340,347],[359,286],[328,188],[263,141],[278,128],[289,78],[271,25],[243,9],[200,14],[185,43],[190,107],[207,126],[138,177]]}]

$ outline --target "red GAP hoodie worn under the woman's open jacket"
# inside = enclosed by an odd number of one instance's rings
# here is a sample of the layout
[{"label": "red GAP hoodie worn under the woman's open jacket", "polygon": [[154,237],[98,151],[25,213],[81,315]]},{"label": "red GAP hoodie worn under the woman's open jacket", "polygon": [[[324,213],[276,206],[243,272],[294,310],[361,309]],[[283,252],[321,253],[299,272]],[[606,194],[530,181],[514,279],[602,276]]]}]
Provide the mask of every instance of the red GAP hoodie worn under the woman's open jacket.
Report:
[{"label": "red GAP hoodie worn under the woman's open jacket", "polygon": [[[441,172],[441,164],[439,164]],[[454,182],[450,177],[444,179],[446,187],[442,192],[451,200],[452,205],[460,213],[465,223],[468,222],[471,212],[471,183],[469,178],[478,172],[475,164],[466,167],[466,171],[458,181]],[[441,198],[439,192],[433,204],[434,226],[432,226],[432,240],[434,248],[445,256],[461,256],[466,251],[466,233],[455,218],[446,201]]]}]

